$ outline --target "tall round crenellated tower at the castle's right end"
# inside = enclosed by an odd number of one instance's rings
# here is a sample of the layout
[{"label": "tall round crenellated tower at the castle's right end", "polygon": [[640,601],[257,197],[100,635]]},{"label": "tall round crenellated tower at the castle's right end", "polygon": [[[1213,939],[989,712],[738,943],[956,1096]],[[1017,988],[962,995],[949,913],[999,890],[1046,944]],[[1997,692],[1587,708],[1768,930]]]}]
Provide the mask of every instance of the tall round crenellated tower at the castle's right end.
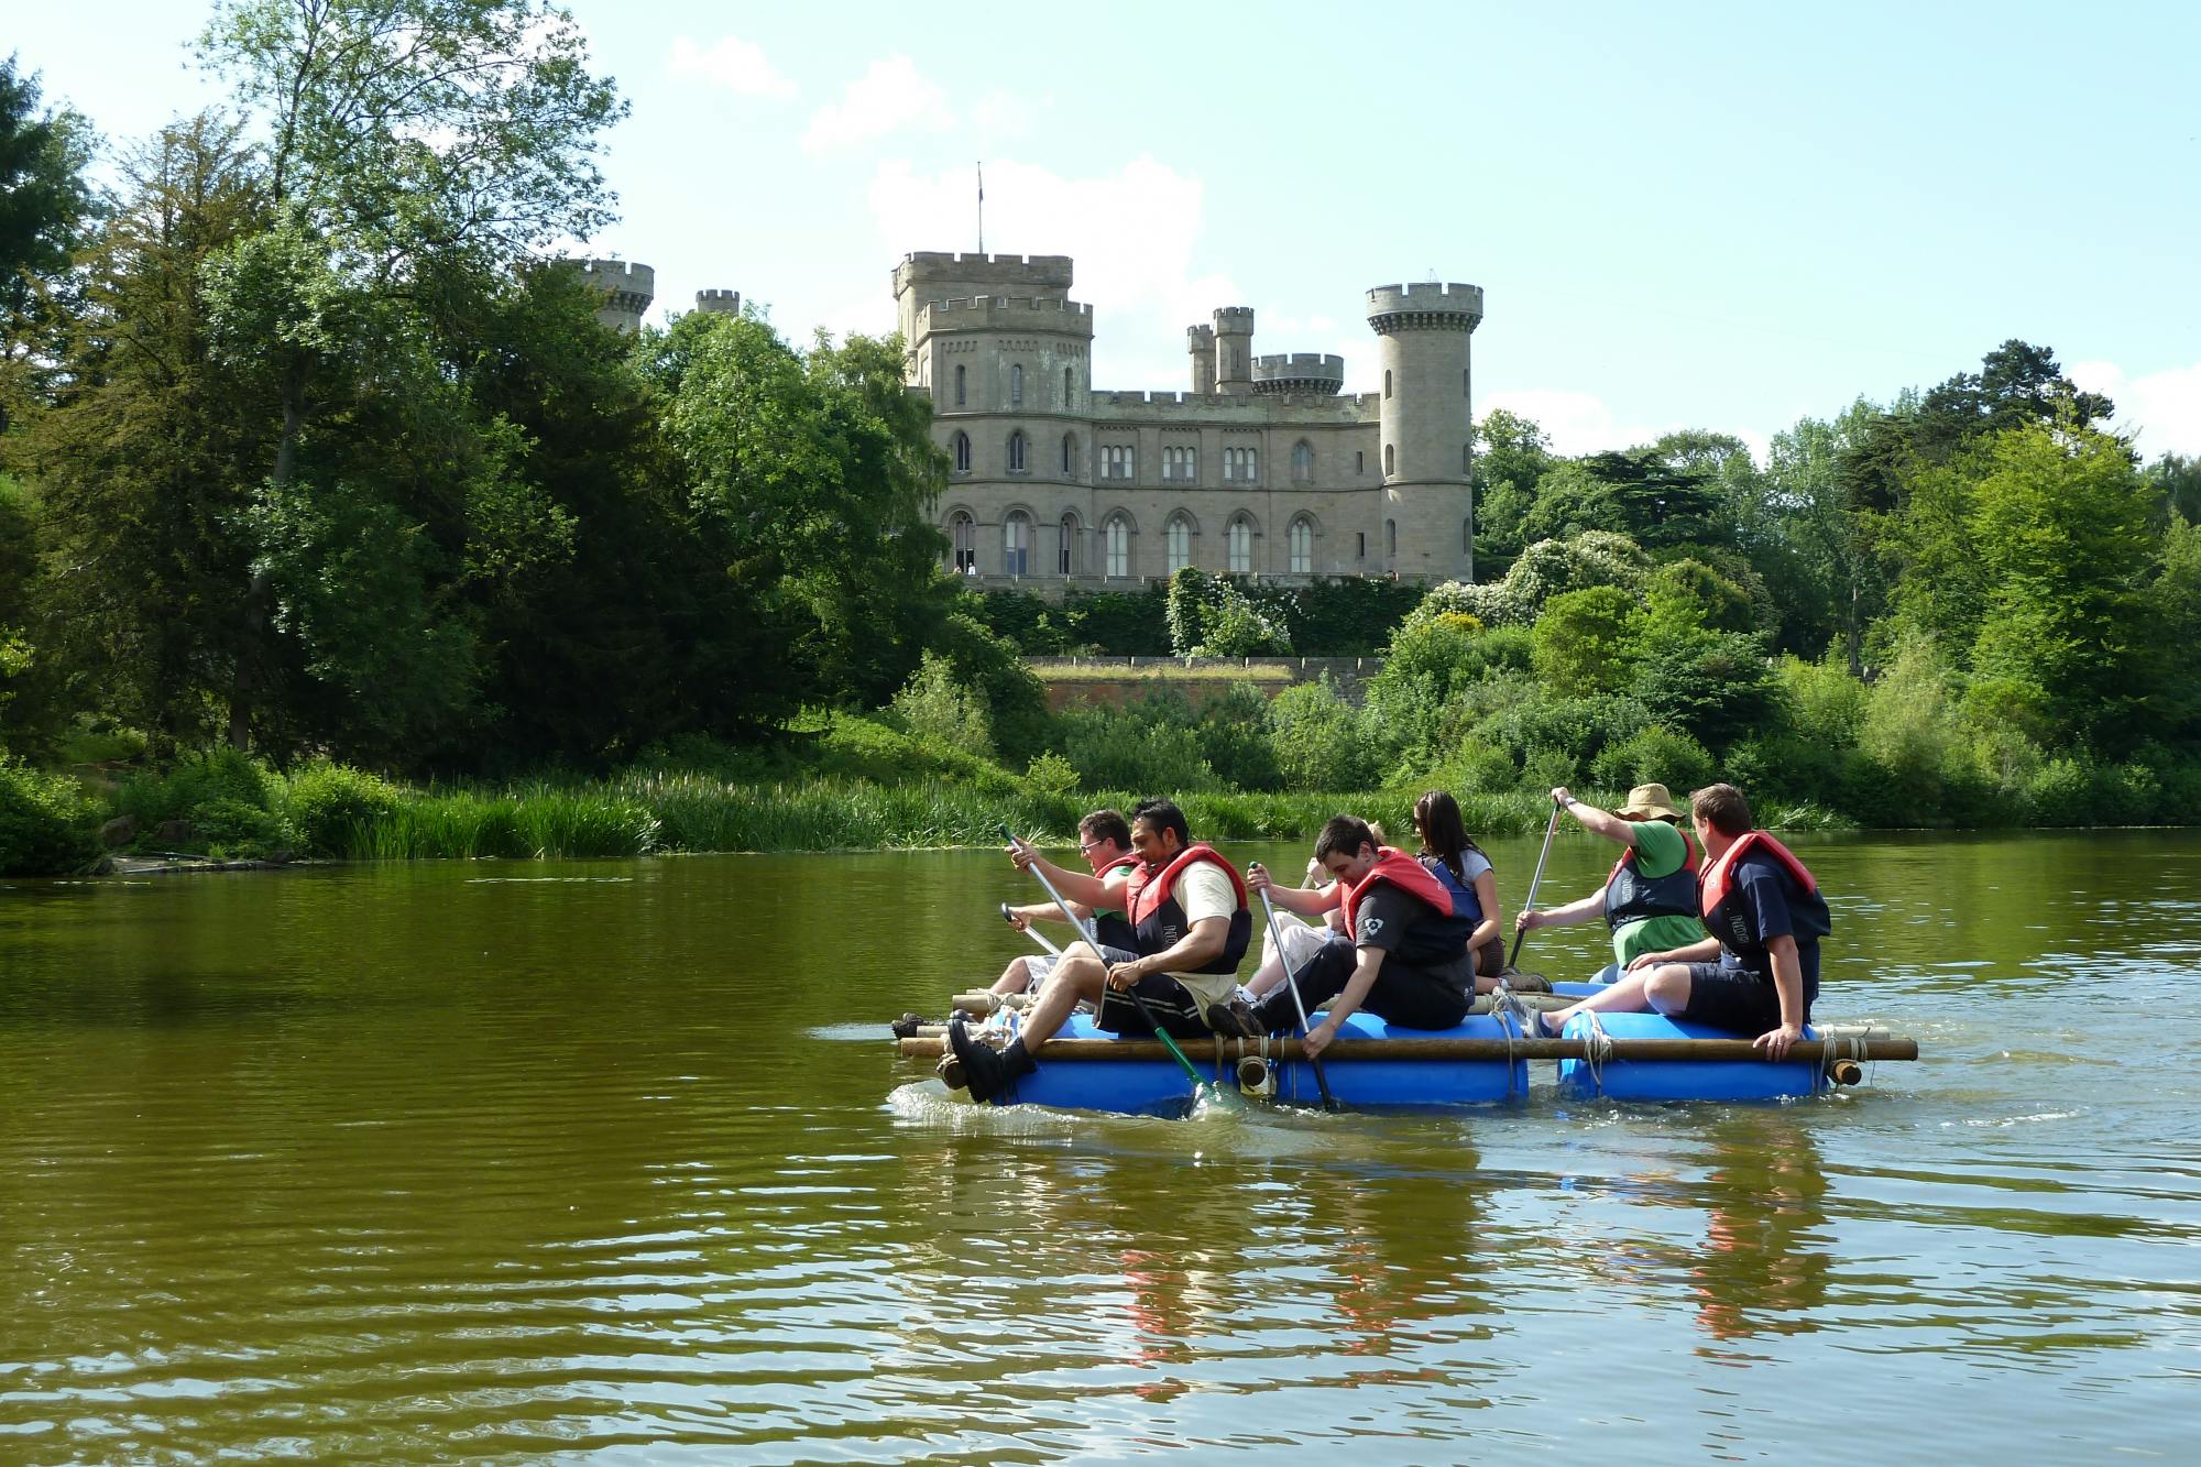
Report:
[{"label": "tall round crenellated tower at the castle's right end", "polygon": [[1468,337],[1483,319],[1483,291],[1433,280],[1376,286],[1367,317],[1382,370],[1380,564],[1413,579],[1470,579],[1475,421]]}]

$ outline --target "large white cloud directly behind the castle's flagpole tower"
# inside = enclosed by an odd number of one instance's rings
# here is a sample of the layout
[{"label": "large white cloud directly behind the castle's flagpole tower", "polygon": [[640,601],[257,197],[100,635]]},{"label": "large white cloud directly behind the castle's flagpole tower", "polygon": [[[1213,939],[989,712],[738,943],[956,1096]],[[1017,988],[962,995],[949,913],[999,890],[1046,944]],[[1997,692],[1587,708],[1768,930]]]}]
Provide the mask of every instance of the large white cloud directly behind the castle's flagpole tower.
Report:
[{"label": "large white cloud directly behind the castle's flagpole tower", "polygon": [[[973,185],[968,167],[918,174],[907,161],[883,163],[869,200],[887,251],[973,249]],[[986,249],[1076,258],[1070,297],[1094,306],[1094,385],[1182,392],[1184,328],[1215,306],[1246,304],[1228,275],[1197,269],[1204,200],[1200,178],[1151,156],[1100,178],[997,159],[986,163]]]}]

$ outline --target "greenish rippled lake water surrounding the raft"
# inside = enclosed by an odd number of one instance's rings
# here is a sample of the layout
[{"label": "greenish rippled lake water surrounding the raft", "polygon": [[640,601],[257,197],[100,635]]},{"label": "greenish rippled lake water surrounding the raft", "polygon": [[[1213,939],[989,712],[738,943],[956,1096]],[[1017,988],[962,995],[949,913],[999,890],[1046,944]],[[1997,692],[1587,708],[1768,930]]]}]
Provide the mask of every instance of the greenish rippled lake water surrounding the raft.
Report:
[{"label": "greenish rippled lake water surrounding the raft", "polygon": [[1189,1121],[896,1057],[997,852],[15,883],[0,1463],[2192,1460],[2201,837],[1798,846],[1862,1090]]}]

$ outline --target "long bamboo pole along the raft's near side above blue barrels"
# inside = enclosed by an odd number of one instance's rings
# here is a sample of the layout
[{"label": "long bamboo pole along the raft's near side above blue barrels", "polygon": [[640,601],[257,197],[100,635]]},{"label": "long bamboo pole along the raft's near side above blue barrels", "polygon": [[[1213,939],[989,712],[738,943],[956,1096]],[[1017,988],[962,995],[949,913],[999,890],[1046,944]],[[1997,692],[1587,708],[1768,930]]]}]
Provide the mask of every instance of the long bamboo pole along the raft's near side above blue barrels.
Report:
[{"label": "long bamboo pole along the raft's near side above blue barrels", "polygon": [[[902,1055],[909,1060],[938,1060],[942,1040],[920,1035],[902,1040]],[[1180,1040],[1193,1060],[1222,1060],[1259,1055],[1259,1040]],[[1591,1051],[1602,1060],[1660,1062],[1765,1062],[1750,1040],[1609,1040],[1602,1048],[1587,1040],[1334,1040],[1323,1051],[1338,1060],[1589,1060]],[[1277,1037],[1268,1042],[1268,1053],[1277,1060],[1303,1060],[1299,1040]],[[1034,1060],[1169,1060],[1169,1051],[1153,1040],[1048,1040],[1032,1055]],[[1796,1040],[1785,1064],[1831,1064],[1836,1060],[1917,1060],[1919,1042],[1899,1035]]]}]

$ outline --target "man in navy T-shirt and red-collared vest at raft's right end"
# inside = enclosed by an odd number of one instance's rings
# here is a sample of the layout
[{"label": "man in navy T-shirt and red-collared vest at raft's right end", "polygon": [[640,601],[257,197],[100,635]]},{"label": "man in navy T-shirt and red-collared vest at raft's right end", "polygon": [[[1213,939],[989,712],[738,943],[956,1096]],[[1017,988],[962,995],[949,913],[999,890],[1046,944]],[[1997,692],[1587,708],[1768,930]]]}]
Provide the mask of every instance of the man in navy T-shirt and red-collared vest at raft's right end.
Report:
[{"label": "man in navy T-shirt and red-collared vest at raft's right end", "polygon": [[1818,941],[1833,930],[1818,881],[1796,855],[1750,824],[1750,802],[1732,784],[1688,797],[1704,844],[1699,914],[1715,936],[1644,952],[1609,989],[1541,1015],[1558,1033],[1576,1013],[1657,1009],[1730,1033],[1754,1033],[1767,1060],[1783,1060],[1811,1022]]}]

